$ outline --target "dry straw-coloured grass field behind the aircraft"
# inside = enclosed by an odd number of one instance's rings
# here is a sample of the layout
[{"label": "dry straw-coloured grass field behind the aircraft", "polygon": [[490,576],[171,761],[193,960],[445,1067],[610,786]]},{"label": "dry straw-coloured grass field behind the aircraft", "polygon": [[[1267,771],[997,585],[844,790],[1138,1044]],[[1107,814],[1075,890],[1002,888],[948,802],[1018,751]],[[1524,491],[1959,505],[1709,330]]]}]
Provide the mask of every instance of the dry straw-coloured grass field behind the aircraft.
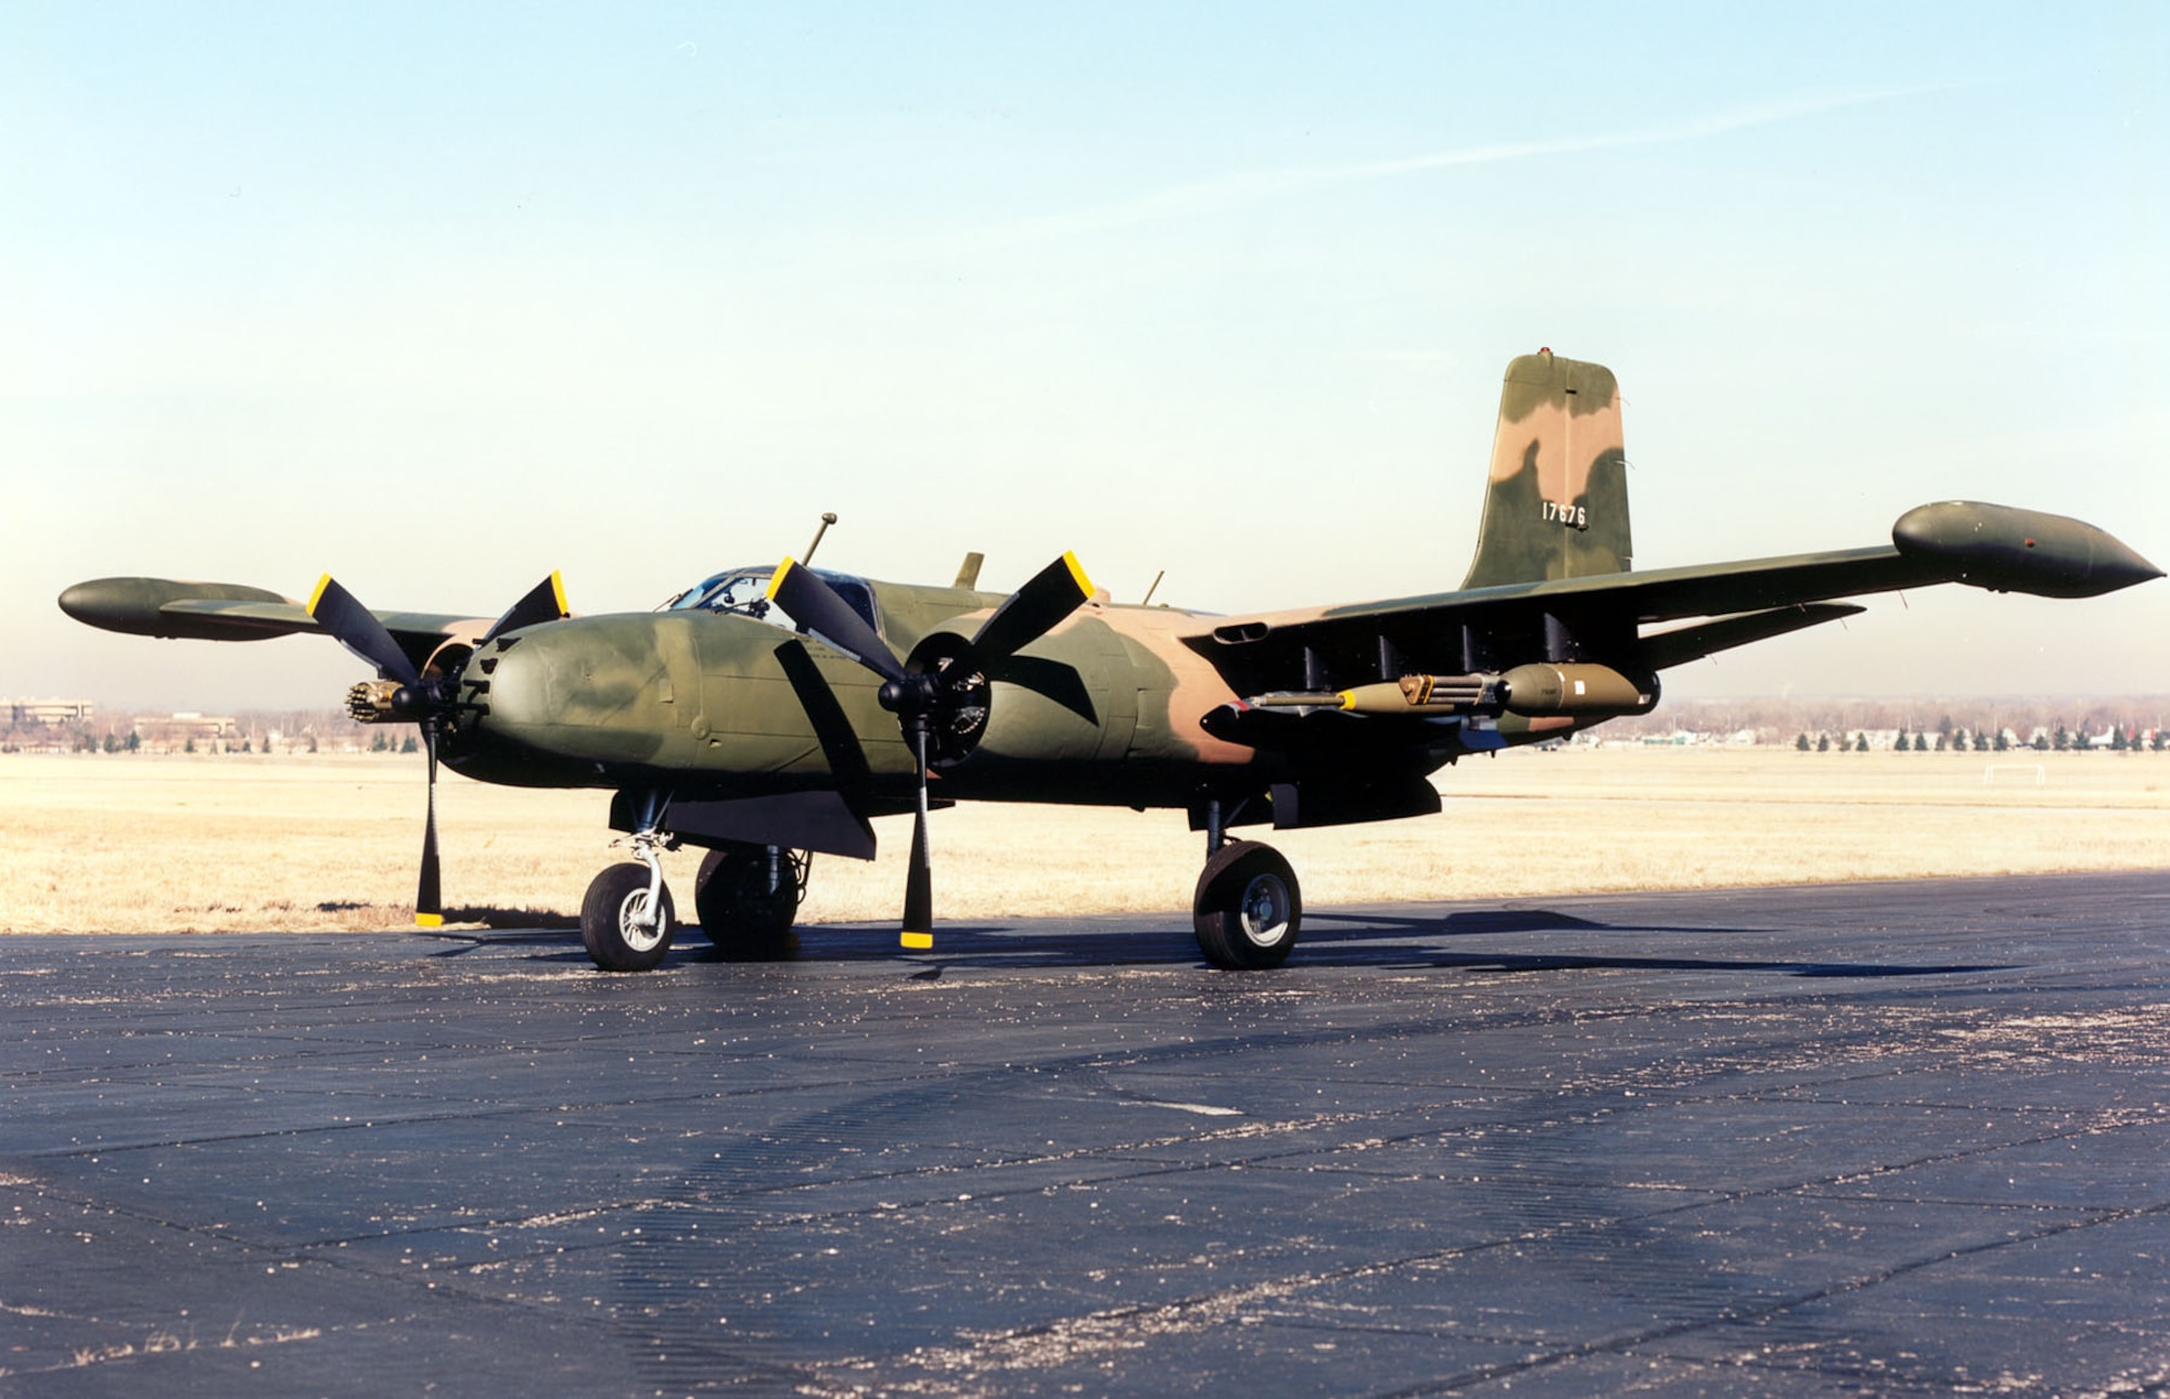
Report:
[{"label": "dry straw-coloured grass field behind the aircraft", "polygon": [[[406,926],[421,779],[388,755],[0,757],[0,930]],[[1272,835],[1304,900],[2170,868],[2170,755],[1569,748],[1439,781],[1443,816]],[[616,859],[605,809],[447,776],[447,922],[577,922]],[[816,857],[807,922],[896,915],[909,824],[881,839],[875,865]],[[957,807],[933,842],[946,920],[1187,909],[1202,859],[1172,811]],[[697,863],[666,857],[688,904]]]}]

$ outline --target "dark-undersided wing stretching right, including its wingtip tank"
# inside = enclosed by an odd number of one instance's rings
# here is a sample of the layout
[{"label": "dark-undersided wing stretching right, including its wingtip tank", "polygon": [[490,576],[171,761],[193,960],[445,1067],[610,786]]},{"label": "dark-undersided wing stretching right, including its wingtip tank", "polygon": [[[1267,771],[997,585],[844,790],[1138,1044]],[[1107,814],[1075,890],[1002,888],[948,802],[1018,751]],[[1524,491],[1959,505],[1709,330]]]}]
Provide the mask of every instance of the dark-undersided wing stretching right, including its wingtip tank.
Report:
[{"label": "dark-undersided wing stretching right, including its wingtip tank", "polygon": [[[1860,612],[1831,599],[1968,583],[2096,596],[2161,577],[2081,521],[1944,501],[1910,510],[1879,549],[1599,573],[1228,618],[1185,638],[1239,694],[1330,690],[1408,672],[1480,672],[1532,659],[1662,670]],[[1703,618],[1669,631],[1662,623]]]}]

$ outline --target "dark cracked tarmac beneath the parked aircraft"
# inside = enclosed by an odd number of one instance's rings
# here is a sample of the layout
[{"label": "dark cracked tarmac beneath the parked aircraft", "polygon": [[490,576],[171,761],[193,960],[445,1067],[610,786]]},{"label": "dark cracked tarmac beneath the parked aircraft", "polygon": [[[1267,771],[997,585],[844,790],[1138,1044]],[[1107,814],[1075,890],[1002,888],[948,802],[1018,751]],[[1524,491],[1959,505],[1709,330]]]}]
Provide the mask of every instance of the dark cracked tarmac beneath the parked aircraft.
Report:
[{"label": "dark cracked tarmac beneath the parked aircraft", "polygon": [[2170,874],[0,939],[4,1395],[2163,1395]]}]

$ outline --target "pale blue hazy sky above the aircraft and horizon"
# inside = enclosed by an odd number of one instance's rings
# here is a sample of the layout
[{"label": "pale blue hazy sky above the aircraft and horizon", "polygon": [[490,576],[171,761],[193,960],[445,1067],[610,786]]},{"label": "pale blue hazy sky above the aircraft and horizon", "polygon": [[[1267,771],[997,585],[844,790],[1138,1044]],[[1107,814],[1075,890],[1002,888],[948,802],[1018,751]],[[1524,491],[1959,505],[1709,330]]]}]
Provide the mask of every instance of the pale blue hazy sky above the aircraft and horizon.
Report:
[{"label": "pale blue hazy sky above the aircraft and horizon", "polygon": [[[0,2],[0,694],[330,703],[111,573],[647,607],[1063,549],[1454,586],[1502,364],[1628,399],[1643,566],[1929,499],[2170,562],[2170,11]],[[2170,692],[2170,583],[1938,590],[1675,694]]]}]

